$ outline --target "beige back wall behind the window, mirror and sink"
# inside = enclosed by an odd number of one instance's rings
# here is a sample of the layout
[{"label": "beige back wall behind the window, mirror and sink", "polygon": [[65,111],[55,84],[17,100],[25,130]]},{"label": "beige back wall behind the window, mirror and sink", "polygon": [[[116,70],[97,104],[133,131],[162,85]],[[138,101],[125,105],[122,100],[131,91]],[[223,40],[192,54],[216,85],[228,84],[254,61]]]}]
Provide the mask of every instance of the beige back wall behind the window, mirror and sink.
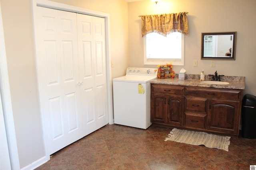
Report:
[{"label": "beige back wall behind the window, mirror and sink", "polygon": [[[216,70],[226,76],[245,76],[244,94],[256,96],[256,0],[162,0],[155,4],[150,0],[128,3],[129,66],[156,67],[143,64],[143,39],[139,15],[188,12],[189,36],[185,35],[185,64],[174,66],[187,74],[206,74]],[[201,60],[201,33],[237,31],[236,60]],[[198,66],[193,66],[198,60]]]}]

